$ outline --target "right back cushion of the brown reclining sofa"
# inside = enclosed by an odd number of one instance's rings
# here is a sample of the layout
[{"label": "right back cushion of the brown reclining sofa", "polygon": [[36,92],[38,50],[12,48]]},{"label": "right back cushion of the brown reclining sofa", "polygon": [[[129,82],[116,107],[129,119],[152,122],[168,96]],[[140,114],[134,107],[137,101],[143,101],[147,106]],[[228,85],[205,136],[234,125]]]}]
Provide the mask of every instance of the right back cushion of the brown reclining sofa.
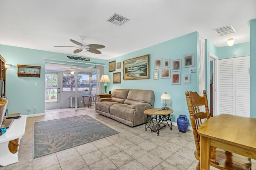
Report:
[{"label": "right back cushion of the brown reclining sofa", "polygon": [[[131,90],[129,90],[126,99],[135,100],[135,101],[139,101],[139,102],[144,101],[145,103],[148,103],[151,106],[153,106],[154,100],[155,100],[155,95],[154,95],[154,91],[152,91],[152,90],[131,89]],[[126,103],[126,101],[124,103]]]}]

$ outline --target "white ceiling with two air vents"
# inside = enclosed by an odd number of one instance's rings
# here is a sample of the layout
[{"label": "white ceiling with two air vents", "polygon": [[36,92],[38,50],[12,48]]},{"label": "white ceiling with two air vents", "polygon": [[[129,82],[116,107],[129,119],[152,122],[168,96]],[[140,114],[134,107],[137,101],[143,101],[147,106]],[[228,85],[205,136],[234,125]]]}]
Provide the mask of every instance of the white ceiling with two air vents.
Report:
[{"label": "white ceiling with two air vents", "polygon": [[[105,45],[112,59],[194,31],[217,47],[250,41],[248,21],[256,18],[256,0],[1,0],[0,44],[74,55],[70,39]],[[130,21],[107,22],[114,14]],[[212,29],[232,24],[237,33],[219,37]]]}]

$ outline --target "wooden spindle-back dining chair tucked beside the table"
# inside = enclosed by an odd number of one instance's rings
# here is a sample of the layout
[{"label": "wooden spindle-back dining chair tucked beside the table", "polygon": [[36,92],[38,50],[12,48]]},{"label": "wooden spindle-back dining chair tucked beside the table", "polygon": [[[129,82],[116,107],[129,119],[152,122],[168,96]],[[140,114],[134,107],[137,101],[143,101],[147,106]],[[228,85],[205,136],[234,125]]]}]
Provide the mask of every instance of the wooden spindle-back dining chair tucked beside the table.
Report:
[{"label": "wooden spindle-back dining chair tucked beside the table", "polygon": [[[200,170],[200,135],[197,129],[205,119],[210,119],[208,100],[205,90],[203,91],[204,96],[199,96],[197,92],[188,91],[185,94],[196,143],[194,152],[198,160],[196,170]],[[204,109],[205,111],[202,111]],[[212,147],[210,165],[221,170],[251,170],[252,162],[250,158]]]}]

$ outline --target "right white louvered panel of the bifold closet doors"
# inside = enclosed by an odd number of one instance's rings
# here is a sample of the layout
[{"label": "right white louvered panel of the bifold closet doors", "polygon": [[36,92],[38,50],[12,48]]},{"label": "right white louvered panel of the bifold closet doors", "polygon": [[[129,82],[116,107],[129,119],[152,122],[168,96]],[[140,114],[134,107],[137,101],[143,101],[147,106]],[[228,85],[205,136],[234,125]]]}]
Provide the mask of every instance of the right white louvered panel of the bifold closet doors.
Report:
[{"label": "right white louvered panel of the bifold closet doors", "polygon": [[236,58],[236,115],[250,117],[250,57]]}]

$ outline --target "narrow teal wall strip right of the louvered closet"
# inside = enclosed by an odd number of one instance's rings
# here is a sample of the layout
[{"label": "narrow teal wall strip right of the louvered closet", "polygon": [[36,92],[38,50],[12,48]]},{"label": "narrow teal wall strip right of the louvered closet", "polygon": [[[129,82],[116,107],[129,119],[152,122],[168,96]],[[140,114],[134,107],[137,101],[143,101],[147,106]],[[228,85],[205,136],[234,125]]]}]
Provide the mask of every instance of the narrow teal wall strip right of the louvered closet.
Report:
[{"label": "narrow teal wall strip right of the louvered closet", "polygon": [[256,19],[250,20],[250,117],[256,118]]}]

